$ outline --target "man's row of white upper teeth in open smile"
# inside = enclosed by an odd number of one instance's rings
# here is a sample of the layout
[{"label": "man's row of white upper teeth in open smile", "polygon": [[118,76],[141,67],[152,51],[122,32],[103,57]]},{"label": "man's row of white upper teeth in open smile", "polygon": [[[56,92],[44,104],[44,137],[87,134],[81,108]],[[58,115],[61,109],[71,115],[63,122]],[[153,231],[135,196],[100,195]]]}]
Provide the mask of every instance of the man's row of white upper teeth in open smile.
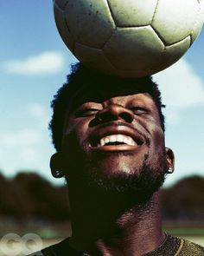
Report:
[{"label": "man's row of white upper teeth in open smile", "polygon": [[105,136],[105,137],[101,138],[97,146],[103,147],[103,146],[105,146],[105,144],[108,144],[109,142],[121,142],[121,143],[127,144],[129,146],[137,145],[136,142],[133,141],[133,139],[130,136],[109,135],[109,136]]}]

